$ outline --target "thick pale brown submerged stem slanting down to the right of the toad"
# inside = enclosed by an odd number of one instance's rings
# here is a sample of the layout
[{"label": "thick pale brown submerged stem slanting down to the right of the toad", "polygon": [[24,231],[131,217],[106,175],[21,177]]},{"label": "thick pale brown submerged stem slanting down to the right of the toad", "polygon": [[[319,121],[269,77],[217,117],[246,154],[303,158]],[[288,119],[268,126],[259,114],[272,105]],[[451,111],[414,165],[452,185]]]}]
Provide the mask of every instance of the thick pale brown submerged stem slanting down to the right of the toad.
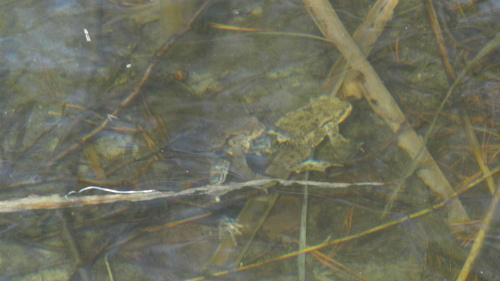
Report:
[{"label": "thick pale brown submerged stem slanting down to the right of the toad", "polygon": [[[444,199],[454,195],[453,188],[430,155],[425,142],[407,125],[405,116],[396,101],[384,86],[375,70],[366,60],[363,52],[353,41],[332,6],[327,0],[304,0],[306,6],[321,25],[324,36],[331,40],[352,69],[359,71],[364,78],[365,97],[370,106],[394,133],[400,132],[398,145],[405,150],[416,163],[411,172],[419,168],[417,175]],[[447,206],[449,221],[467,221],[465,212],[458,198],[450,200]]]}]

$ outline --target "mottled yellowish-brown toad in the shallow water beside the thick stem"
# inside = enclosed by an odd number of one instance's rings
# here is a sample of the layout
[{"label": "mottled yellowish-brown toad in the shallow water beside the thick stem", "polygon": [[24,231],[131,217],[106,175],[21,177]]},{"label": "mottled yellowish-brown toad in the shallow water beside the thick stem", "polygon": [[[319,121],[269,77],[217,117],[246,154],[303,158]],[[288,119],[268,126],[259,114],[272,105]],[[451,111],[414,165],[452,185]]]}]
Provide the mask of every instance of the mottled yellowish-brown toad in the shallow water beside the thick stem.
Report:
[{"label": "mottled yellowish-brown toad in the shallow water beside the thick stem", "polygon": [[265,173],[276,178],[288,178],[290,172],[325,171],[336,164],[309,159],[313,150],[328,136],[334,147],[347,143],[340,133],[338,124],[349,116],[352,106],[335,96],[322,96],[307,105],[287,113],[276,123],[276,130],[265,133],[265,127],[256,118],[236,120],[225,127],[213,139],[213,147],[226,146],[232,155],[230,170],[242,179],[259,177],[247,165],[246,157],[250,145],[263,135],[276,136],[275,157]]}]

